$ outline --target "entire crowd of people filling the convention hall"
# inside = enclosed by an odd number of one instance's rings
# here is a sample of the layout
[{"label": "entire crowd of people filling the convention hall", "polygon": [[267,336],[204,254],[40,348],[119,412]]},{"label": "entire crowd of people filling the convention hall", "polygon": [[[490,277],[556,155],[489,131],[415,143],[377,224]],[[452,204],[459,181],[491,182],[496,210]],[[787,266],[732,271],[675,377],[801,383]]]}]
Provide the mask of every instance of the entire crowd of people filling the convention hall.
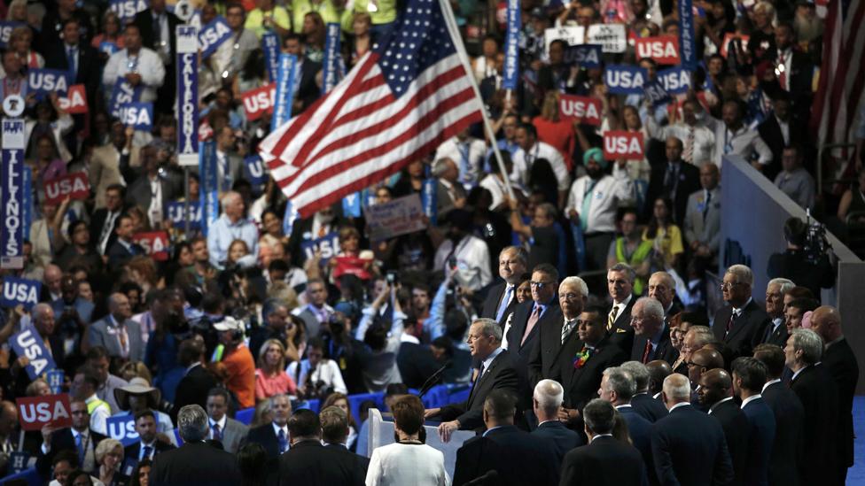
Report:
[{"label": "entire crowd of people filling the convention hall", "polygon": [[[297,114],[323,96],[327,25],[350,70],[401,2],[198,0],[189,18],[180,3],[129,4],[0,0],[17,22],[4,24],[0,98],[27,105],[33,204],[24,266],[2,275],[41,282],[38,303],[0,314],[0,474],[27,451],[44,482],[75,486],[846,482],[859,367],[821,302],[830,259],[811,258],[794,218],[766,222],[787,241],[768,269],[719,261],[725,156],[851,238],[865,222],[861,163],[846,192],[814,183],[813,3],[695,1],[688,89],[653,101],[612,92],[605,66],[649,80],[671,67],[635,40],[678,36],[676,1],[518,2],[506,90],[506,3],[451,0],[496,139],[466,128],[357,193],[367,208],[435,188],[425,229],[378,240],[346,202],[292,218],[247,166],[271,115],[242,100],[276,81],[262,36],[297,57]],[[231,32],[199,64],[199,134],[217,162],[206,188],[178,165],[174,33],[214,19]],[[570,44],[588,38],[560,33],[599,24],[624,26],[625,47],[585,66]],[[88,111],[28,89],[42,68],[82,85]],[[121,83],[152,104],[152,129],[118,117]],[[595,100],[598,120],[566,116],[566,95]],[[640,134],[642,153],[605,155],[608,132]],[[74,173],[88,197],[47,194]],[[169,215],[205,191],[220,205],[208,228]],[[166,248],[140,244],[154,233]],[[28,328],[62,382],[31,379],[8,345]],[[437,383],[468,396],[425,409],[417,395]],[[21,430],[15,399],[54,393],[68,393],[72,426]],[[370,444],[377,405],[355,416],[349,400],[363,393],[383,395],[394,444]],[[112,437],[116,416],[136,442]],[[455,465],[426,444],[432,422],[444,443],[477,432]]]}]

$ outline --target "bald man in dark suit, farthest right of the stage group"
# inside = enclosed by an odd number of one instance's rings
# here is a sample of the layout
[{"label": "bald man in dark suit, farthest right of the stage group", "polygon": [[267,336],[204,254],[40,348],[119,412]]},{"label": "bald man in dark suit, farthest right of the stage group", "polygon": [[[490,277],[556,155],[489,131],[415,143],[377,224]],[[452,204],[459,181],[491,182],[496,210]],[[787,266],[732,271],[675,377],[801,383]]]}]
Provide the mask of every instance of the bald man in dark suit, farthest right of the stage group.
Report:
[{"label": "bald man in dark suit, farthest right of the stage group", "polygon": [[841,332],[841,316],[830,305],[817,307],[811,328],[826,343],[822,364],[838,387],[838,483],[843,484],[847,468],[853,466],[853,395],[859,382],[859,363],[850,343]]}]

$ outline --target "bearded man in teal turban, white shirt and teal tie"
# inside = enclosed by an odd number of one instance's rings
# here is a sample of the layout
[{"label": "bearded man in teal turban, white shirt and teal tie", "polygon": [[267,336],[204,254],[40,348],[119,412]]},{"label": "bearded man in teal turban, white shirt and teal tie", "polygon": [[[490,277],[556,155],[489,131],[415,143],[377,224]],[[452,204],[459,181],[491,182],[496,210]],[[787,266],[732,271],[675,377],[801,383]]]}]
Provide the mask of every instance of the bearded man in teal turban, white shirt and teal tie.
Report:
[{"label": "bearded man in teal turban, white shirt and teal tie", "polygon": [[565,213],[573,225],[580,225],[586,243],[588,270],[604,268],[607,250],[616,231],[616,211],[634,198],[634,186],[625,170],[625,160],[606,174],[609,161],[598,148],[583,154],[586,174],[573,181]]}]

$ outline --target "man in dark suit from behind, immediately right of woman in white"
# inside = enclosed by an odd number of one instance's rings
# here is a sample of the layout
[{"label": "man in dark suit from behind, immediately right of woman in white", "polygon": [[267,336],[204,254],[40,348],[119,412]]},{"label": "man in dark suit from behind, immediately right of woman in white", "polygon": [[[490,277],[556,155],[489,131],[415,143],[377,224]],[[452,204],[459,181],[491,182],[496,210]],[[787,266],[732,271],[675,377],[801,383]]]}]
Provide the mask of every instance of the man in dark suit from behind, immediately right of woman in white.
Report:
[{"label": "man in dark suit from behind, immediately right of woman in white", "polygon": [[[472,437],[456,451],[454,484],[464,484],[484,474],[480,484],[530,486],[557,484],[557,451],[553,444],[513,425],[515,397],[493,390],[484,401],[487,431]],[[495,473],[492,473],[495,471]]]}]

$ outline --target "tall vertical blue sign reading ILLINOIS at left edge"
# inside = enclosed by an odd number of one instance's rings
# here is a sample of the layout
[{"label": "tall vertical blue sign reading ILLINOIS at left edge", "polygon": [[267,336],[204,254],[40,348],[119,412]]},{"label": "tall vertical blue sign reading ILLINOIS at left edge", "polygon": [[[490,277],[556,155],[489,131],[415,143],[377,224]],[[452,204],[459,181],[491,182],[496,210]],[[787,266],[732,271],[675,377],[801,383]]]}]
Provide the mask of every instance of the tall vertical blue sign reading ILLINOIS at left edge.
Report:
[{"label": "tall vertical blue sign reading ILLINOIS at left edge", "polygon": [[23,268],[24,240],[24,120],[3,120],[3,153],[0,181],[3,221],[0,231],[0,267]]}]

